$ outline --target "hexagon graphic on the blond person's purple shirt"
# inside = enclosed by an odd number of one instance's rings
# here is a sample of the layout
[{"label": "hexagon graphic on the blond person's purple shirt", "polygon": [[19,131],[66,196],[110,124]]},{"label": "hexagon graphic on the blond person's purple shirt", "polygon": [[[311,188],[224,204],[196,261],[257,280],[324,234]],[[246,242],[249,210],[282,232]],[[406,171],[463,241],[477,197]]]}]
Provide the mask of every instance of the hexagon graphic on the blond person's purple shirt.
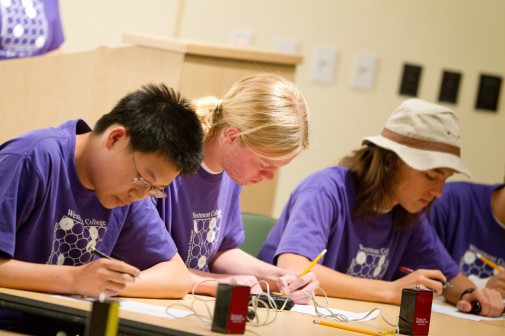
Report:
[{"label": "hexagon graphic on the blond person's purple shirt", "polygon": [[196,217],[193,219],[186,266],[208,272],[209,256],[214,255],[218,247],[217,238],[221,231],[222,216],[217,211],[213,211],[208,214],[198,214]]}]

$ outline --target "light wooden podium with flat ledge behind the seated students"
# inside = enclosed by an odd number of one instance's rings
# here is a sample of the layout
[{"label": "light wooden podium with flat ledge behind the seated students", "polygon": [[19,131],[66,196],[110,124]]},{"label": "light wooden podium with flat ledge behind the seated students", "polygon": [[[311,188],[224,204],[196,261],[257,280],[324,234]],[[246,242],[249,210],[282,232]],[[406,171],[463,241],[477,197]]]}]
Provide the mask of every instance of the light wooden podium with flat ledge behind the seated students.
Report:
[{"label": "light wooden podium with flat ledge behind the seated students", "polygon": [[[0,62],[0,142],[82,118],[91,126],[127,92],[165,83],[191,99],[221,97],[240,77],[293,79],[298,55],[127,33],[121,48]],[[271,215],[276,180],[244,187],[242,211]]]}]

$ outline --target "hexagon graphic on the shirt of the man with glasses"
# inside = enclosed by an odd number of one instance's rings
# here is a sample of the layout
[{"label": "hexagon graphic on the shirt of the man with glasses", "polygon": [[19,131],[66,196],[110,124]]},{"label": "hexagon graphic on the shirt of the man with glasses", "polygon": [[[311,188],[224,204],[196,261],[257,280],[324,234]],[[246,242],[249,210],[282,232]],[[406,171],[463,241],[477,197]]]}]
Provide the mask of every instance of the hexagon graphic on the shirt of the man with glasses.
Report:
[{"label": "hexagon graphic on the shirt of the man with glasses", "polygon": [[78,218],[63,216],[54,225],[53,248],[48,264],[81,265],[92,258],[90,247],[95,247],[105,235],[105,225],[84,225]]}]

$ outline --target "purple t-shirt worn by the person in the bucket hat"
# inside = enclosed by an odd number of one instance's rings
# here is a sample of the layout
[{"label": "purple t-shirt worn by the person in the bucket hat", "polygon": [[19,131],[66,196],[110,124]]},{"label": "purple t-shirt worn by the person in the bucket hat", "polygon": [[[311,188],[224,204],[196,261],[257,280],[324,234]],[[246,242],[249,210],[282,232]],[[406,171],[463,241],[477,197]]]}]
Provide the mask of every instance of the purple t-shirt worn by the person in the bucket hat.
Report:
[{"label": "purple t-shirt worn by the person in the bucket hat", "polygon": [[258,258],[275,263],[283,253],[311,260],[327,249],[323,265],[348,275],[395,280],[400,266],[439,269],[448,279],[457,265],[426,220],[395,230],[390,213],[353,220],[355,189],[347,168],[331,167],[306,178],[291,194]]}]

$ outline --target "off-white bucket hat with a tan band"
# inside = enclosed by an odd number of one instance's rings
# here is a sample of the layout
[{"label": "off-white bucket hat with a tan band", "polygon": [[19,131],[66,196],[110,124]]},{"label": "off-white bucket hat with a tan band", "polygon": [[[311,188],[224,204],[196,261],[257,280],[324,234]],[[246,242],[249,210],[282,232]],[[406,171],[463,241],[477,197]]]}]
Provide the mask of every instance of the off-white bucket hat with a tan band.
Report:
[{"label": "off-white bucket hat with a tan band", "polygon": [[460,158],[459,119],[447,107],[422,99],[404,101],[389,117],[381,135],[367,142],[395,152],[417,170],[451,168],[470,177]]}]

